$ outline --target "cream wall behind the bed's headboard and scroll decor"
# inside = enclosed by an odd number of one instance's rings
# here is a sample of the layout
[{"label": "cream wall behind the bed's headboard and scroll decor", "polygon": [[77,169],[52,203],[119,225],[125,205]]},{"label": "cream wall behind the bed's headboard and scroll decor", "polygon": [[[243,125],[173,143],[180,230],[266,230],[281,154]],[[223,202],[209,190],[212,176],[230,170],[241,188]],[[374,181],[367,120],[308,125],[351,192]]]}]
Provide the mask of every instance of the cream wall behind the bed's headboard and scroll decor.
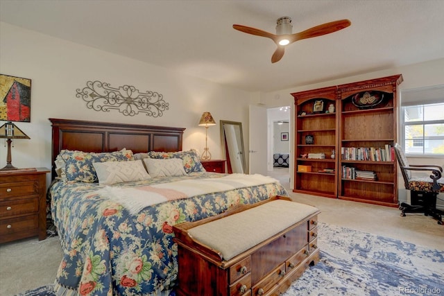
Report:
[{"label": "cream wall behind the bed's headboard and scroll decor", "polygon": [[[31,139],[14,141],[14,166],[51,168],[49,118],[186,128],[183,149],[196,148],[203,152],[205,128],[199,127],[198,121],[203,112],[209,111],[218,123],[208,129],[208,146],[212,157],[222,158],[221,119],[243,123],[248,150],[248,103],[257,94],[180,75],[3,22],[0,23],[0,37],[0,73],[32,80],[31,123],[17,123]],[[76,98],[76,89],[83,89],[89,80],[108,82],[112,87],[133,85],[141,92],[158,92],[169,103],[169,110],[157,118],[144,114],[124,116],[117,111],[90,110],[85,101]],[[2,142],[0,168],[5,165],[6,147]]]}]

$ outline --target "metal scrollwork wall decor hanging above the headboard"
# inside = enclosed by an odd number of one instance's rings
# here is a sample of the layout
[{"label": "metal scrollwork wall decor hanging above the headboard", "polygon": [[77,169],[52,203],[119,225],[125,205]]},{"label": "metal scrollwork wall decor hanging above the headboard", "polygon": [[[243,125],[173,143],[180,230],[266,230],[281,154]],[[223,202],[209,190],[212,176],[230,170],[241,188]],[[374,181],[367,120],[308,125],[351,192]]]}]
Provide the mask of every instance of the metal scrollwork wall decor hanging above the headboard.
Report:
[{"label": "metal scrollwork wall decor hanging above the headboard", "polygon": [[142,93],[131,85],[114,88],[99,80],[88,81],[86,85],[83,89],[77,89],[76,97],[83,98],[86,106],[92,110],[110,112],[115,109],[125,116],[145,113],[153,117],[162,116],[165,110],[169,110],[169,103],[157,92]]}]

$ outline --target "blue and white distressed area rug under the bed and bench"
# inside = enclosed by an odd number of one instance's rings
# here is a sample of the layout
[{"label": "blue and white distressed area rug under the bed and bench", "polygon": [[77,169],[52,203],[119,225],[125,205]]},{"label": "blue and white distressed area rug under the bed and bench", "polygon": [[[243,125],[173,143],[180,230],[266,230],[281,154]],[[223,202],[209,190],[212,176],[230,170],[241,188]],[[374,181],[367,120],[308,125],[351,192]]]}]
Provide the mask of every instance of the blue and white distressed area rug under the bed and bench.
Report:
[{"label": "blue and white distressed area rug under the bed and bench", "polygon": [[[321,260],[284,293],[296,295],[444,295],[444,251],[319,224]],[[444,247],[444,245],[443,245]],[[52,285],[19,294],[54,295]]]}]

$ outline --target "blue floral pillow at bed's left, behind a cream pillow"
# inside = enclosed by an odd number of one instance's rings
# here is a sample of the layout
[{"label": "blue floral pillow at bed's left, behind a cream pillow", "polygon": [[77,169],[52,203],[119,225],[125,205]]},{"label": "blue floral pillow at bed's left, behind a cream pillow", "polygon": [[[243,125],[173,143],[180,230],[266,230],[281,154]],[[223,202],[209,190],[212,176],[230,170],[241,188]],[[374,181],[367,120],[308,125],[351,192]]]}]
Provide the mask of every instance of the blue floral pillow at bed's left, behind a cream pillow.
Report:
[{"label": "blue floral pillow at bed's left, behind a cream pillow", "polygon": [[131,150],[123,150],[107,153],[85,153],[82,151],[71,151],[62,157],[66,159],[65,174],[68,181],[86,183],[98,182],[96,170],[92,165],[94,162],[126,162],[133,160]]}]

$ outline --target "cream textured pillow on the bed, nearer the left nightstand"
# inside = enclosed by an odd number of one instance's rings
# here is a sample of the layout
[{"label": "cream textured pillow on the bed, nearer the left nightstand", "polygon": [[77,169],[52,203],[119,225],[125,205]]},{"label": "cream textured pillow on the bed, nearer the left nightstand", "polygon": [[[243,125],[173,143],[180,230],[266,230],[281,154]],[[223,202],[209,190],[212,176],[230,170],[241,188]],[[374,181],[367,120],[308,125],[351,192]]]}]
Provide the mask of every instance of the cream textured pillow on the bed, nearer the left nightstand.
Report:
[{"label": "cream textured pillow on the bed, nearer the left nightstand", "polygon": [[93,162],[99,184],[111,185],[121,182],[141,181],[150,178],[142,160],[128,162]]}]

